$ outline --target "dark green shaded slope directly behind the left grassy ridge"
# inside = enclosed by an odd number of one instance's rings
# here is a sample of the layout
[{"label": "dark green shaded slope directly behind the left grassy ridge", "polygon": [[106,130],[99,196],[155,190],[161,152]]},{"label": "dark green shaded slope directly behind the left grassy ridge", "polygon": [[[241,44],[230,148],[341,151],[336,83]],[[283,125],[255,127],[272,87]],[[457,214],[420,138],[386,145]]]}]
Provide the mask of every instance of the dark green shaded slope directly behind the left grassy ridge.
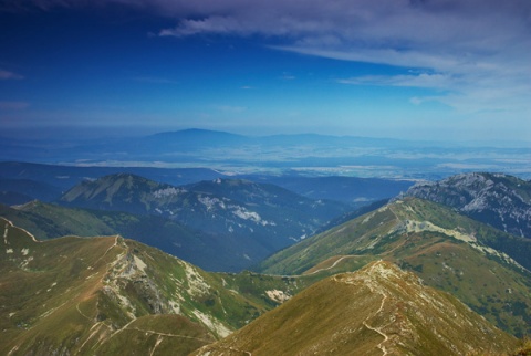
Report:
[{"label": "dark green shaded slope directly behind the left grassy ridge", "polygon": [[241,244],[235,239],[220,240],[163,217],[65,208],[39,201],[14,208],[0,205],[0,216],[42,239],[121,234],[209,271],[239,271],[244,260]]}]

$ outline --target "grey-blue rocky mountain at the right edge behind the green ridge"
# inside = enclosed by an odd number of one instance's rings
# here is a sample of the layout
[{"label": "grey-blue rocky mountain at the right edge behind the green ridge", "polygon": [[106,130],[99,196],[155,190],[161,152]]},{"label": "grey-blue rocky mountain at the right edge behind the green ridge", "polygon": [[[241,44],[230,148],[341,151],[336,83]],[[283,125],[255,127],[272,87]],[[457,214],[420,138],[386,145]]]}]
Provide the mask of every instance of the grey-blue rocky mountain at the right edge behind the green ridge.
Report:
[{"label": "grey-blue rocky mountain at the right edge behind the green ridge", "polygon": [[531,238],[531,182],[502,174],[464,174],[417,184],[406,196],[457,209],[504,232]]}]

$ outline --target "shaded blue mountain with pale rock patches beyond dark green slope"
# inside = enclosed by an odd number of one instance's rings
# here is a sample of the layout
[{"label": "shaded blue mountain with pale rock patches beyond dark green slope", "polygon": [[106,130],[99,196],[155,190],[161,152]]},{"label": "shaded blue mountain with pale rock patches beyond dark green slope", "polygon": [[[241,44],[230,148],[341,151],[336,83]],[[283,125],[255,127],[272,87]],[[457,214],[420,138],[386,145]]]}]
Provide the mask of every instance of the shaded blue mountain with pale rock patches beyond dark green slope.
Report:
[{"label": "shaded blue mountain with pale rock patches beyond dark green slope", "polygon": [[210,239],[204,242],[212,244],[207,249],[231,261],[223,265],[230,266],[226,271],[249,268],[348,210],[342,203],[315,201],[246,180],[217,179],[177,188],[125,174],[83,182],[67,191],[61,202],[155,216],[205,233]]}]

